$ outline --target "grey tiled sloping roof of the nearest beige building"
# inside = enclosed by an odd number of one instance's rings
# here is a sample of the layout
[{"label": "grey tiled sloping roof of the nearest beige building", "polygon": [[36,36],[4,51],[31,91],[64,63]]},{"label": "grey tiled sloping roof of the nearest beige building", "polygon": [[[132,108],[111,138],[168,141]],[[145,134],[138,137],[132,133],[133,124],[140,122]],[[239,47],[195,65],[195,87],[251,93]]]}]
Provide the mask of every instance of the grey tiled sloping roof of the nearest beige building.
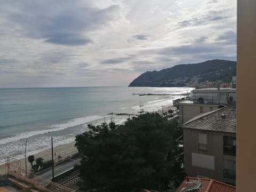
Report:
[{"label": "grey tiled sloping roof of the nearest beige building", "polygon": [[226,106],[198,115],[181,125],[183,128],[236,133],[236,107]]}]

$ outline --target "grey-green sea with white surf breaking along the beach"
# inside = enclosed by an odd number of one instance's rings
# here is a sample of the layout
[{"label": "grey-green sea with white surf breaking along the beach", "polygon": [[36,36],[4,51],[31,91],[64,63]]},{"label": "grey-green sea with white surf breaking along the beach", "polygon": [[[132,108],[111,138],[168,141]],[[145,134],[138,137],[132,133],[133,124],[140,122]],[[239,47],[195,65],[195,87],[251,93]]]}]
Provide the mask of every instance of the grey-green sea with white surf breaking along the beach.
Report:
[{"label": "grey-green sea with white surf breaking along the beach", "polygon": [[[73,142],[88,124],[110,122],[110,113],[138,115],[171,106],[190,87],[51,87],[0,89],[0,159],[24,157]],[[177,94],[143,95],[138,94]],[[114,115],[123,124],[127,115]]]}]

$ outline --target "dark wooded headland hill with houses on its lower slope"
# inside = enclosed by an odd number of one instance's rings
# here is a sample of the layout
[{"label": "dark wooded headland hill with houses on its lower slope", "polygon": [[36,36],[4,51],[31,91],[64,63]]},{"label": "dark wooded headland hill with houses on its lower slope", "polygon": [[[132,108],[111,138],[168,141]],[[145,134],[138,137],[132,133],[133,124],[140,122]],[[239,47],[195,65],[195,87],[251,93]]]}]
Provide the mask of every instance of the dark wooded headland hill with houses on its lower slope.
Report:
[{"label": "dark wooded headland hill with houses on its lower slope", "polygon": [[209,60],[182,64],[160,71],[147,71],[129,86],[198,86],[207,83],[229,83],[236,76],[236,61]]}]

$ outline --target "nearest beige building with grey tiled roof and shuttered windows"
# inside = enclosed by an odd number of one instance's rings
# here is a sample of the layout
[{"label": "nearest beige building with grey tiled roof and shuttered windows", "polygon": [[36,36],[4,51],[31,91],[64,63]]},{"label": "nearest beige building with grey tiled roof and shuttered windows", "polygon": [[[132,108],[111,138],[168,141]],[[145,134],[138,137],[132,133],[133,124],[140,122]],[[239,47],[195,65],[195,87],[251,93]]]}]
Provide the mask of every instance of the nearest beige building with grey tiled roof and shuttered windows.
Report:
[{"label": "nearest beige building with grey tiled roof and shuttered windows", "polygon": [[235,185],[236,107],[198,115],[181,127],[186,174]]}]

